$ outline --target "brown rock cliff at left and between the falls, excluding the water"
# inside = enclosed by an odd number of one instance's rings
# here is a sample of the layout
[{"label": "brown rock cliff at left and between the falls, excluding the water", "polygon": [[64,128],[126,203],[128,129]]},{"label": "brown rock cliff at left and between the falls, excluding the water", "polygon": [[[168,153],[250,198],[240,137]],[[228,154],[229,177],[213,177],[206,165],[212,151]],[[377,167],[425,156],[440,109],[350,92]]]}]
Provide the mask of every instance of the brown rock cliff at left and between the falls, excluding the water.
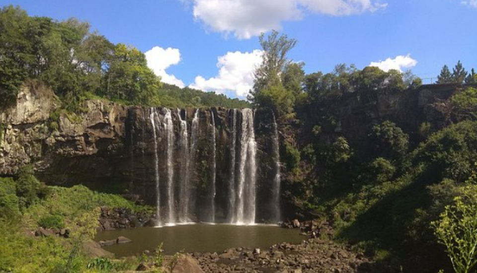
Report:
[{"label": "brown rock cliff at left and between the falls, excluding the water", "polygon": [[[208,204],[211,194],[212,162],[216,162],[217,215],[226,217],[229,202],[231,170],[239,179],[242,117],[240,110],[224,108],[197,110],[198,123],[194,160],[186,158],[181,143],[182,120],[185,120],[191,140],[192,119],[196,109],[165,109],[122,106],[101,100],[88,100],[82,113],[66,113],[59,109],[53,93],[43,86],[25,86],[16,107],[2,113],[0,144],[0,175],[14,175],[19,168],[33,164],[37,176],[48,184],[85,184],[108,192],[125,193],[156,205],[157,180],[161,196],[167,192],[169,172],[174,173],[176,200],[179,184],[185,179],[186,165],[190,174],[191,203]],[[151,121],[157,113],[157,124]],[[172,160],[167,162],[168,141],[164,116],[170,112],[173,125]],[[271,141],[273,115],[261,110],[254,114],[257,143],[256,189],[257,203],[269,204],[269,181],[274,177]],[[212,120],[213,119],[213,120]],[[236,125],[236,148],[232,155],[231,134]],[[215,124],[216,149],[213,150],[212,124]],[[155,126],[155,128],[153,128]],[[156,137],[155,137],[156,136]],[[232,156],[235,165],[232,166]],[[246,162],[243,162],[246,164]],[[158,168],[156,176],[156,166]],[[247,172],[249,170],[243,170]],[[162,197],[161,204],[167,197]],[[166,204],[163,204],[166,205]],[[178,204],[180,205],[180,204]],[[263,205],[257,219],[266,217],[269,208]],[[197,207],[196,211],[207,211]],[[271,208],[270,208],[271,209]],[[198,215],[200,217],[200,215]]]}]

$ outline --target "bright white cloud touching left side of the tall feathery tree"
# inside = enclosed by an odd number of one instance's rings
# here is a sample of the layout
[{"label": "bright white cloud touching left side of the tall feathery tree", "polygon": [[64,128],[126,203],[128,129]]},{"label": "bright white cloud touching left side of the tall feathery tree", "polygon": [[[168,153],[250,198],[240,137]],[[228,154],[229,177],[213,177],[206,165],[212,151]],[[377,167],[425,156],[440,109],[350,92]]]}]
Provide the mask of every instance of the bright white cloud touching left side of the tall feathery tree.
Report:
[{"label": "bright white cloud touching left side of the tall feathery tree", "polygon": [[217,93],[233,91],[238,97],[243,98],[253,87],[253,71],[261,61],[261,50],[245,53],[228,52],[218,58],[219,73],[217,76],[209,79],[197,76],[190,87]]}]

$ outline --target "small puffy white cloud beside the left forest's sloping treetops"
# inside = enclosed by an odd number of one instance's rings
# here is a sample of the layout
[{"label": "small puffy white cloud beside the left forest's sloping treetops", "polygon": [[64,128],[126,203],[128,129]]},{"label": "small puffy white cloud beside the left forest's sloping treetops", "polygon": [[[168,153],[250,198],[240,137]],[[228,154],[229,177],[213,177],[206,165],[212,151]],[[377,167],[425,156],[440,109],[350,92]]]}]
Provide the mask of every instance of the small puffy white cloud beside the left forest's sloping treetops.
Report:
[{"label": "small puffy white cloud beside the left forest's sloping treetops", "polygon": [[148,50],[145,55],[148,61],[148,67],[153,69],[156,75],[160,76],[162,82],[174,84],[180,88],[185,86],[182,80],[165,71],[170,66],[177,65],[180,62],[180,51],[178,49],[153,47]]}]

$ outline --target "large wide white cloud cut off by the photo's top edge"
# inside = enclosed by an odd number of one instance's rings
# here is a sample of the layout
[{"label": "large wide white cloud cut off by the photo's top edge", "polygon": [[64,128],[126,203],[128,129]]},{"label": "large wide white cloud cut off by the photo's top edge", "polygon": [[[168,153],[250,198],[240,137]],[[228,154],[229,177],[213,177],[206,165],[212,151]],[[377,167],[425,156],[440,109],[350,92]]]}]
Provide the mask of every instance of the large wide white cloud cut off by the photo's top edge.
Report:
[{"label": "large wide white cloud cut off by the photo's top edge", "polygon": [[[474,1],[474,0],[472,0]],[[282,21],[302,19],[307,13],[332,16],[358,14],[386,7],[379,0],[192,0],[194,17],[213,31],[248,39]]]}]

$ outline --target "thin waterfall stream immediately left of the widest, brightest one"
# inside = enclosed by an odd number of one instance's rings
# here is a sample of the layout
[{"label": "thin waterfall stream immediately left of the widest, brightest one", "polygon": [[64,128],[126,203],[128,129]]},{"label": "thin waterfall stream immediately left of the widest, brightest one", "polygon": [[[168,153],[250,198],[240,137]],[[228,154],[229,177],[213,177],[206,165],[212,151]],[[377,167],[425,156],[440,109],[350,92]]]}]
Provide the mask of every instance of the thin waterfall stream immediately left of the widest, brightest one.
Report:
[{"label": "thin waterfall stream immediately left of the widest, brightest one", "polygon": [[[230,115],[229,115],[230,117]],[[230,223],[236,221],[235,219],[235,146],[237,145],[237,109],[232,109],[232,122],[229,124],[231,128],[230,135],[230,177],[229,177],[229,211],[228,211],[228,220]]]}]

